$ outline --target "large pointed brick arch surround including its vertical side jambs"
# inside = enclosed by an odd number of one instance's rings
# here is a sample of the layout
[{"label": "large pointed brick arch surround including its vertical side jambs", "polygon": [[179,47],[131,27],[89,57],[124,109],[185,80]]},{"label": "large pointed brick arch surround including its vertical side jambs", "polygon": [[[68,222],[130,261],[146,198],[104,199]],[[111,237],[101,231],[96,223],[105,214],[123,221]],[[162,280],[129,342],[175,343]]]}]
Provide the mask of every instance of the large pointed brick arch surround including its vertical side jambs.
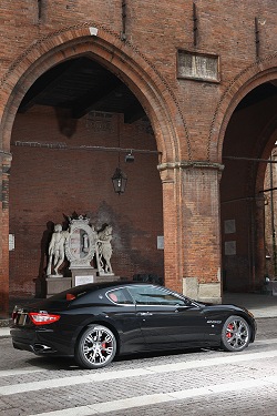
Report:
[{"label": "large pointed brick arch surround including its vertical side jambs", "polygon": [[[0,79],[0,154],[7,154],[7,158],[11,156],[9,151],[14,119],[23,97],[35,80],[54,65],[84,55],[98,61],[117,75],[141,102],[154,130],[157,150],[162,153],[161,164],[175,164],[181,161],[181,158],[188,162],[193,161],[185,118],[167,80],[131,42],[122,41],[117,33],[94,22],[63,28],[41,37],[10,64]],[[175,281],[181,282],[182,270],[178,260],[175,262],[175,257],[179,258],[181,255],[183,235],[182,216],[177,215],[179,201],[182,201],[181,170],[163,171],[161,180],[164,223],[171,224],[173,230],[167,235],[165,232],[164,257],[168,258],[167,263],[173,263],[173,266],[166,264],[165,274],[174,276]],[[2,224],[0,224],[4,231],[2,241],[6,242],[2,253],[7,258],[6,263],[2,262],[2,270],[0,270],[2,286],[0,301],[4,313],[8,313],[8,206],[6,214]],[[175,230],[177,231],[175,232]]]}]

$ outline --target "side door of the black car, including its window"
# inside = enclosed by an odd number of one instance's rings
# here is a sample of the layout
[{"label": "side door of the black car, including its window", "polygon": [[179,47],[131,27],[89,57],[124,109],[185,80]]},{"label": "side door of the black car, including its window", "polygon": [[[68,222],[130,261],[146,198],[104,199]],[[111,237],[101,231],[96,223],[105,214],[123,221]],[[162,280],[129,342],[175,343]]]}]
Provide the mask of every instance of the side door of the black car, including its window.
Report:
[{"label": "side door of the black car, including its window", "polygon": [[197,304],[154,285],[132,285],[129,291],[150,347],[177,348],[204,341],[206,319]]}]

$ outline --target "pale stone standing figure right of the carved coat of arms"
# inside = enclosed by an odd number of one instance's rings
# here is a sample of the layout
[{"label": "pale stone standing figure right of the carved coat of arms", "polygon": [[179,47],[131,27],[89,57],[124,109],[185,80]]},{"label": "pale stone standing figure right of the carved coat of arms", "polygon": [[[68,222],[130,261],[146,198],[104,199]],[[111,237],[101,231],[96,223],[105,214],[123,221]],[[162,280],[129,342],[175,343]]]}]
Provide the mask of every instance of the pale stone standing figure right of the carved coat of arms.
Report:
[{"label": "pale stone standing figure right of the carved coat of arms", "polygon": [[112,257],[112,225],[105,225],[104,230],[98,233],[98,256],[99,256],[99,271],[109,274],[113,273],[111,265]]}]

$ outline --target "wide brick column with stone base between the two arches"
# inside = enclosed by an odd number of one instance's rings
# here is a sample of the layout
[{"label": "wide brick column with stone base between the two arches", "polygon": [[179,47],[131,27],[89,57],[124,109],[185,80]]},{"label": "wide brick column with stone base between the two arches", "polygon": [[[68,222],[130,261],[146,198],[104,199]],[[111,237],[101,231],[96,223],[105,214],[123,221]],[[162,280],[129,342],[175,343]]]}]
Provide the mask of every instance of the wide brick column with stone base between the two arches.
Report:
[{"label": "wide brick column with stone base between the two arches", "polygon": [[222,165],[158,166],[163,182],[165,284],[203,302],[222,301]]}]

